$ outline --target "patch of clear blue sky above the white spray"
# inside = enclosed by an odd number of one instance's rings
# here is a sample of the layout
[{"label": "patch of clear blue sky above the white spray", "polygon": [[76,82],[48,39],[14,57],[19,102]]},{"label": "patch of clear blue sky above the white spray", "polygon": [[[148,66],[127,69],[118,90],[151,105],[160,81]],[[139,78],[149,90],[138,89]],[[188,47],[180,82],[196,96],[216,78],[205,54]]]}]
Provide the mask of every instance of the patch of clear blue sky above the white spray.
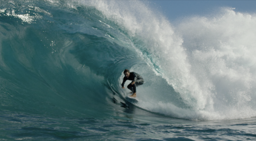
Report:
[{"label": "patch of clear blue sky above the white spray", "polygon": [[236,12],[256,13],[256,0],[149,0],[169,21],[191,15],[206,16],[222,7],[235,8]]}]

